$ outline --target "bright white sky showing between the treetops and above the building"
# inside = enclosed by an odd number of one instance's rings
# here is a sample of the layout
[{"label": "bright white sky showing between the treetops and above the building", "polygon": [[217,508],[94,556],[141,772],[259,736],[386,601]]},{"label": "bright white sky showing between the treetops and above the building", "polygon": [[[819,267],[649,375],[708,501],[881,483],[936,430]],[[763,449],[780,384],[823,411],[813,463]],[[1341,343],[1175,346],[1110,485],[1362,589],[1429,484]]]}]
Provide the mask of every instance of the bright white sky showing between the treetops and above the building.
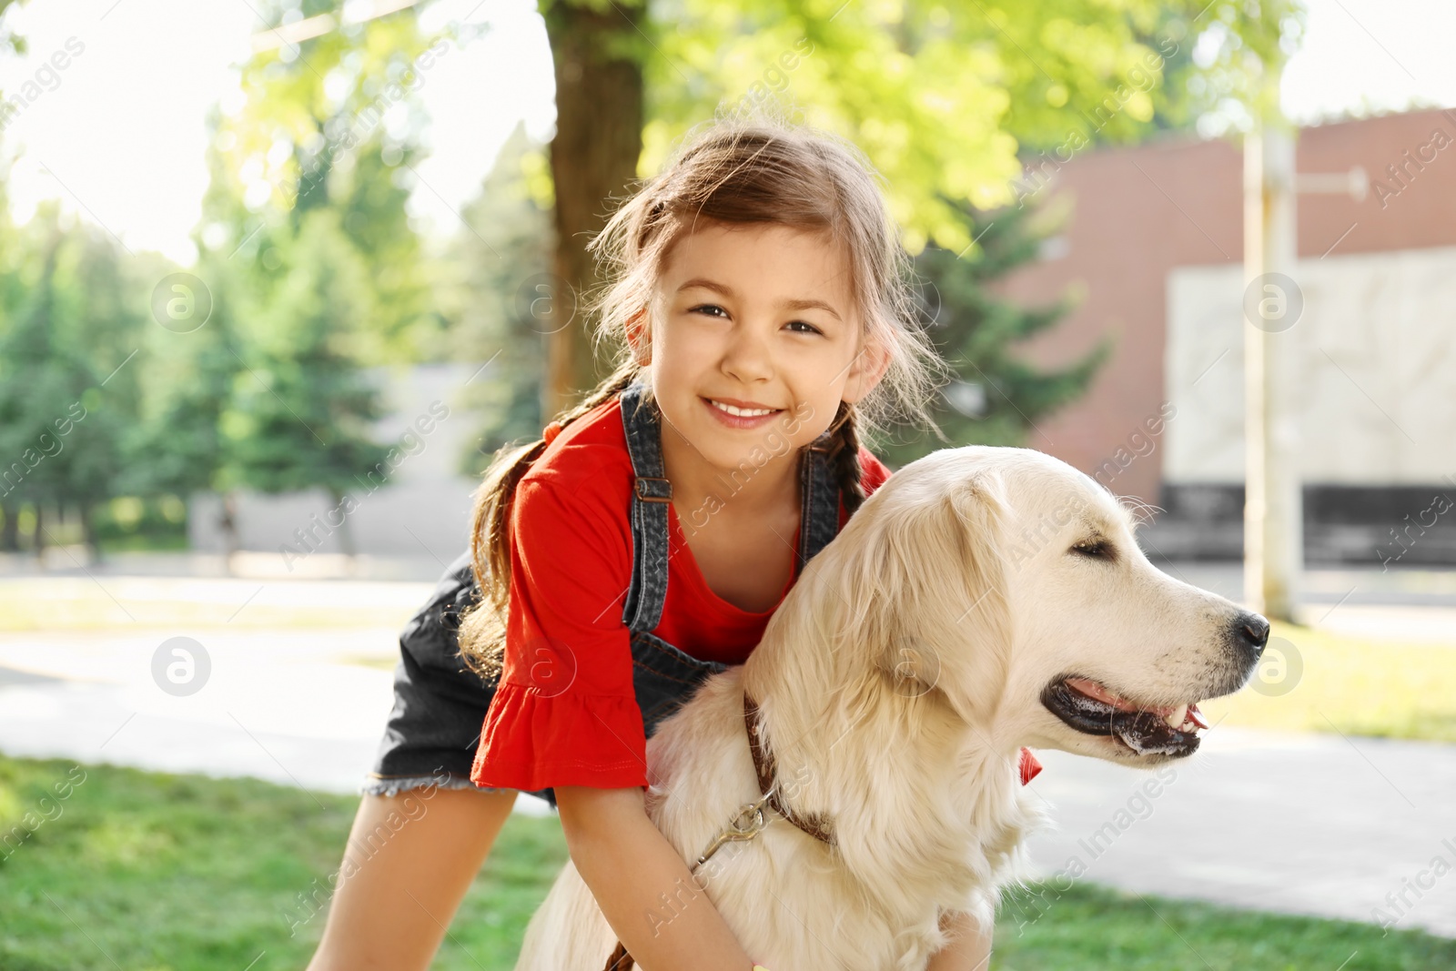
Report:
[{"label": "bright white sky showing between the treetops and above the building", "polygon": [[[1284,108],[1299,119],[1420,100],[1456,106],[1456,3],[1306,0],[1305,45],[1284,76]],[[533,0],[435,0],[424,26],[469,22],[489,31],[453,48],[425,76],[431,156],[418,166],[412,213],[432,233],[479,189],[501,143],[524,119],[549,137],[550,51]],[[233,67],[261,28],[248,0],[31,0],[7,15],[29,52],[0,60],[0,90],[35,79],[57,51],[64,70],[0,135],[10,160],[15,218],[41,199],[103,226],[128,249],[189,265],[189,234],[207,186],[204,116],[239,99]],[[74,38],[74,39],[73,39]],[[70,47],[67,47],[70,45]],[[44,77],[44,76],[42,76]]]}]

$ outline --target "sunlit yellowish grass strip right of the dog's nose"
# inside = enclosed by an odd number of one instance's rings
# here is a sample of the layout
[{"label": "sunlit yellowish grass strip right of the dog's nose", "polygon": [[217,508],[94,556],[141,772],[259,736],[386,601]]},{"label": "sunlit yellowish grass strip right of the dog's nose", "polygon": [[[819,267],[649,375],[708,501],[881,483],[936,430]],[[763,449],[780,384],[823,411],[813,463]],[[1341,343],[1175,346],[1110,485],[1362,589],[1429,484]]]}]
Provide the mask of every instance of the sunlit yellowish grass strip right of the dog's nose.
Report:
[{"label": "sunlit yellowish grass strip right of the dog's nose", "polygon": [[1456,632],[1452,643],[1401,643],[1275,623],[1273,636],[1299,652],[1293,689],[1261,694],[1251,683],[1200,705],[1210,722],[1456,742],[1456,691],[1440,689],[1456,684]]}]

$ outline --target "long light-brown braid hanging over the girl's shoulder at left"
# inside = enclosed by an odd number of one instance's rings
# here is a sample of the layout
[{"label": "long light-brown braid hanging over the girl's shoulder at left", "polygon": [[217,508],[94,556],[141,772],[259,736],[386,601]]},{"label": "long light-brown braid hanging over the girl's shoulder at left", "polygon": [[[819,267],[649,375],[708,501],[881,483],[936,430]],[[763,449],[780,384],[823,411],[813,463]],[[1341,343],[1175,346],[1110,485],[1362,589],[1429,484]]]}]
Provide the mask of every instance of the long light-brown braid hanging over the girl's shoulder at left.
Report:
[{"label": "long light-brown braid hanging over the girl's shoulder at left", "polygon": [[642,365],[626,361],[581,403],[556,416],[542,437],[513,451],[495,453],[475,491],[470,514],[470,572],[480,598],[460,614],[460,657],[476,674],[494,678],[505,654],[505,609],[511,588],[511,501],[521,480],[562,428],[623,392]]}]

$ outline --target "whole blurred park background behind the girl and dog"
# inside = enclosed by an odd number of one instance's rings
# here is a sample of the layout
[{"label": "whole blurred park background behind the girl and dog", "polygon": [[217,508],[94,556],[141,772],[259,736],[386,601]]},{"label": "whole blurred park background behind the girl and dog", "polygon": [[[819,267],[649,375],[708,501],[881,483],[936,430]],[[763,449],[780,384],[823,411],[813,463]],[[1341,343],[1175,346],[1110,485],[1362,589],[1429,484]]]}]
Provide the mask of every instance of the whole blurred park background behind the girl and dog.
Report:
[{"label": "whole blurred park background behind the girl and dog", "polygon": [[[1456,967],[1453,36],[1437,0],[0,0],[0,967],[307,964],[399,629],[491,456],[603,373],[585,243],[734,111],[885,178],[957,380],[877,454],[1054,454],[1277,622],[1185,766],[1038,753],[993,967]],[[513,965],[565,859],[518,809],[435,967]]]}]

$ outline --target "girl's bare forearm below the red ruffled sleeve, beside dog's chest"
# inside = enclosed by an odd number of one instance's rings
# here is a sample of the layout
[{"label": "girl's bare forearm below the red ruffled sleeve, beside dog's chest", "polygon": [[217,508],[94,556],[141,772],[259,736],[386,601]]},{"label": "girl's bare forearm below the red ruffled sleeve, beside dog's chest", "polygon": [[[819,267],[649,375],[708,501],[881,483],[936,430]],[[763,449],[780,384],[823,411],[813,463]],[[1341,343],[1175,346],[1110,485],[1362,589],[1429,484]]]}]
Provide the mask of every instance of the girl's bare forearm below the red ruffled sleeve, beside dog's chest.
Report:
[{"label": "girl's bare forearm below the red ruffled sleeve, beside dog's chest", "polygon": [[648,818],[641,788],[555,789],[571,860],[644,971],[750,971],[743,945]]}]

